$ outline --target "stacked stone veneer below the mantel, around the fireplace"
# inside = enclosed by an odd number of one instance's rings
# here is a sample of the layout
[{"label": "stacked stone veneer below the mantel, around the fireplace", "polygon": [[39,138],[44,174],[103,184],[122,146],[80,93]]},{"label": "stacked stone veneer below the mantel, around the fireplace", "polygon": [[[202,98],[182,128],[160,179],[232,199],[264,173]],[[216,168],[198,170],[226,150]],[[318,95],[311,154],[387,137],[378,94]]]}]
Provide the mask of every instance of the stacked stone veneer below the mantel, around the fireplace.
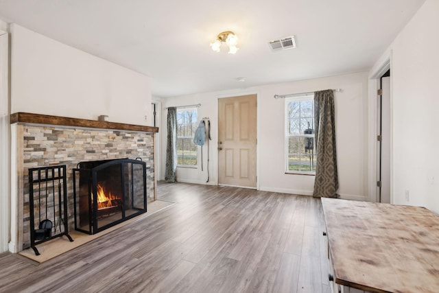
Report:
[{"label": "stacked stone veneer below the mantel, around the fireplace", "polygon": [[[147,167],[147,202],[154,200],[154,134],[125,130],[96,130],[51,126],[19,125],[23,139],[23,248],[30,246],[28,169],[52,165],[67,166],[69,231],[74,230],[73,168],[82,161],[141,158]],[[21,159],[19,158],[19,161]],[[19,164],[21,165],[21,164]],[[19,195],[20,196],[20,195]],[[38,225],[38,219],[36,219]]]}]

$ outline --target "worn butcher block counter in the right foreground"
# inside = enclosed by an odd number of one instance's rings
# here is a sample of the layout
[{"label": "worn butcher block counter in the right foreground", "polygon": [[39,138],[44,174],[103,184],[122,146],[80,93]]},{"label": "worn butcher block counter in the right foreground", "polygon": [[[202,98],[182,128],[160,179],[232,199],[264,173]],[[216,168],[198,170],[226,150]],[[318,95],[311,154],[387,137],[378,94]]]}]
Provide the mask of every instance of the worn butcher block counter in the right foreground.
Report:
[{"label": "worn butcher block counter in the right foreground", "polygon": [[439,215],[335,198],[322,206],[333,292],[439,292]]}]

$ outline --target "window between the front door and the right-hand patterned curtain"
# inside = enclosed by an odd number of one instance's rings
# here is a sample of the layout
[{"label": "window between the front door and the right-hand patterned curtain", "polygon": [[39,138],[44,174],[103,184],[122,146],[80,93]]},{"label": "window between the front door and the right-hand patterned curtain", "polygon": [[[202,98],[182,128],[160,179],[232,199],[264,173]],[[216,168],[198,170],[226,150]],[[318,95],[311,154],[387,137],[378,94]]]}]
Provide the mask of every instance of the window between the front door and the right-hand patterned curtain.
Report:
[{"label": "window between the front door and the right-hand patterned curtain", "polygon": [[285,172],[316,174],[314,94],[285,98]]}]

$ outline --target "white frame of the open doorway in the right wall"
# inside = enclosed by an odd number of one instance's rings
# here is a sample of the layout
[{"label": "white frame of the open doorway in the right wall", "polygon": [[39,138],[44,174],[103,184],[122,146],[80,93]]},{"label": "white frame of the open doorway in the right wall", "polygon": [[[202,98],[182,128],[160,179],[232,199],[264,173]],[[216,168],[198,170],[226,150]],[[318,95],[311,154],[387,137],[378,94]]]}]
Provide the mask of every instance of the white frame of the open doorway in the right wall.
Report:
[{"label": "white frame of the open doorway in the right wall", "polygon": [[[388,51],[383,58],[377,62],[377,66],[370,71],[368,80],[368,200],[379,202],[377,187],[377,168],[379,150],[377,148],[377,126],[378,126],[378,99],[377,91],[381,89],[381,76],[390,69],[392,71],[392,51]],[[393,89],[392,74],[390,74],[390,202],[393,202]]]}]

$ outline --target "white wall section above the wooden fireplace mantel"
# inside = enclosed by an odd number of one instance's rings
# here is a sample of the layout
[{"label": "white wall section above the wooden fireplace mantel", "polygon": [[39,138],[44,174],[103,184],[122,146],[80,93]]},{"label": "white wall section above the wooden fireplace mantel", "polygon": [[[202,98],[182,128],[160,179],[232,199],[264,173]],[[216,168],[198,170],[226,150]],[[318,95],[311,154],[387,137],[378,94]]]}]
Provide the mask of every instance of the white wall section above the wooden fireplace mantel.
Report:
[{"label": "white wall section above the wooden fireplace mantel", "polygon": [[150,125],[149,77],[16,24],[11,33],[12,113]]}]

